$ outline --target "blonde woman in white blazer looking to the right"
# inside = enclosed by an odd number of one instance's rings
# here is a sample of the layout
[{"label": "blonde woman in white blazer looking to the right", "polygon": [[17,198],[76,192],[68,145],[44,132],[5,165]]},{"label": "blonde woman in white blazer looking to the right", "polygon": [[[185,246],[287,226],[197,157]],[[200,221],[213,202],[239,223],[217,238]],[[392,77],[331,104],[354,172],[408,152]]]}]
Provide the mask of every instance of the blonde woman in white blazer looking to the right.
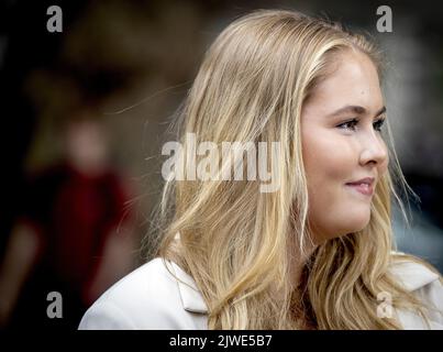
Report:
[{"label": "blonde woman in white blazer looking to the right", "polygon": [[[385,143],[381,73],[376,48],[334,23],[259,10],[230,24],[182,109],[158,251],[80,329],[443,329],[441,275],[394,251],[390,204],[403,209],[408,186]],[[278,187],[243,156],[202,153],[225,142],[269,146],[257,158]]]}]

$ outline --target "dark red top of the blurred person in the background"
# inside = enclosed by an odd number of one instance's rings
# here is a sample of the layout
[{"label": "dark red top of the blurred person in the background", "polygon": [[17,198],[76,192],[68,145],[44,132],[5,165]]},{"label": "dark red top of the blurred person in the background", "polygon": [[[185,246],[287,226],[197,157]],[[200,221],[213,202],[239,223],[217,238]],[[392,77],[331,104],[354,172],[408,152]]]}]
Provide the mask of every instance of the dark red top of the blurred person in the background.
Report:
[{"label": "dark red top of the blurred person in the background", "polygon": [[25,197],[24,217],[42,238],[46,270],[86,297],[104,243],[123,220],[120,179],[111,172],[90,177],[60,165],[34,177]]}]

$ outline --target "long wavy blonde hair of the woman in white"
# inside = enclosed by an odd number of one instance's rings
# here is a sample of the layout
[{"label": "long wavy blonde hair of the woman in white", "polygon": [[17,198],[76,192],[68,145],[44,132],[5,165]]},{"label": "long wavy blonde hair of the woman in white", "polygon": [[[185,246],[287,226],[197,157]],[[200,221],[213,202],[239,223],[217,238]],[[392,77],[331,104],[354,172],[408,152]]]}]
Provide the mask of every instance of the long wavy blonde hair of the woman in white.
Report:
[{"label": "long wavy blonde hair of the woman in white", "polygon": [[259,193],[258,180],[166,180],[154,222],[157,241],[149,242],[157,244],[153,255],[193,277],[208,306],[209,329],[401,329],[395,317],[377,316],[383,292],[390,293],[394,307],[425,318],[420,301],[389,272],[397,257],[392,195],[406,216],[392,179],[412,191],[394,146],[395,163],[377,184],[368,226],[319,245],[302,284],[296,289],[289,284],[291,248],[297,243],[302,253],[310,239],[300,113],[335,55],[346,50],[365,53],[381,77],[381,56],[364,36],[287,10],[237,19],[206,53],[179,110],[184,150],[190,148],[188,132],[197,142],[218,145],[279,141],[284,146],[275,193]]}]

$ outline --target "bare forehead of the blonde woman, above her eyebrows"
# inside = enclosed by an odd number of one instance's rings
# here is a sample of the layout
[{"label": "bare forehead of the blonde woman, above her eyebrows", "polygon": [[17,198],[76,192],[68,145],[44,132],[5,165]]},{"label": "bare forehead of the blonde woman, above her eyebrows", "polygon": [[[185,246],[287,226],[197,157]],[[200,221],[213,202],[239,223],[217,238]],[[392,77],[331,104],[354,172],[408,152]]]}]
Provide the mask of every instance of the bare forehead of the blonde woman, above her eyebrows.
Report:
[{"label": "bare forehead of the blonde woman, above her eyebrows", "polygon": [[329,112],[347,105],[369,111],[384,105],[375,65],[366,54],[353,51],[335,57],[330,74],[314,87],[306,108]]}]

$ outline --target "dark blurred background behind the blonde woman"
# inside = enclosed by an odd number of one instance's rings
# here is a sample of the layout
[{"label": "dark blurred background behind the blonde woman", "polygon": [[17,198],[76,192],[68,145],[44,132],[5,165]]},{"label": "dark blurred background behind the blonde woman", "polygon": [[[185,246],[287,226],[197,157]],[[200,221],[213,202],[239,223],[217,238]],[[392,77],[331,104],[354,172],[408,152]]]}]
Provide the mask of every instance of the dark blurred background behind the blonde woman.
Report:
[{"label": "dark blurred background behind the blonde woman", "polygon": [[[143,262],[160,147],[208,45],[236,16],[295,9],[373,35],[406,179],[420,197],[400,251],[443,272],[443,13],[421,1],[0,2],[3,134],[0,327],[76,329],[101,293]],[[49,33],[51,6],[63,32]],[[378,33],[379,6],[392,32]],[[63,296],[48,319],[47,294]]]}]

